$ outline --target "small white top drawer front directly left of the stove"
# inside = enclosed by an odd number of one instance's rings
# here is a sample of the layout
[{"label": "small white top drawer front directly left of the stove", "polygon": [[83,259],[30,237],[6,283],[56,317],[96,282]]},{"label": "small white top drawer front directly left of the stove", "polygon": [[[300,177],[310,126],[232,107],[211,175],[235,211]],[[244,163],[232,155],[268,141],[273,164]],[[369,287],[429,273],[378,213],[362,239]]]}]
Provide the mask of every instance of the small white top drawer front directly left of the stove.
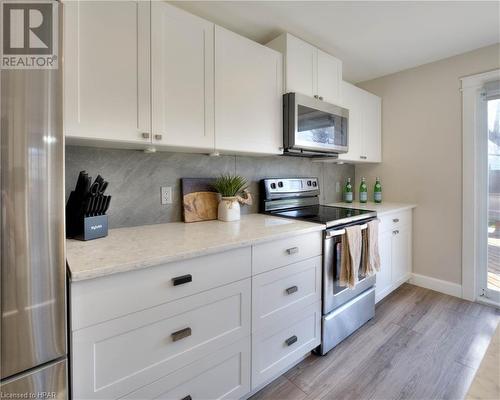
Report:
[{"label": "small white top drawer front directly left of the stove", "polygon": [[320,256],[322,249],[323,232],[312,232],[255,245],[252,247],[252,273],[256,275]]}]

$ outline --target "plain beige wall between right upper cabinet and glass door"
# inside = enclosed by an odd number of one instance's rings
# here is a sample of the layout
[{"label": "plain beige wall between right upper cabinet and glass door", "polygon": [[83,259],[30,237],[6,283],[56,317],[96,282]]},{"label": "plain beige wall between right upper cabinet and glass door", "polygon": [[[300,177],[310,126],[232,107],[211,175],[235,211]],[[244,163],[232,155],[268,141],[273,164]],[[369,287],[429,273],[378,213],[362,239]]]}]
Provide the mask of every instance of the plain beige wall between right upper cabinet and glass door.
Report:
[{"label": "plain beige wall between right upper cabinet and glass door", "polygon": [[[432,44],[431,44],[432,45]],[[387,201],[411,202],[413,272],[461,284],[462,120],[459,78],[500,67],[500,44],[358,85],[382,97],[382,157],[357,166]]]}]

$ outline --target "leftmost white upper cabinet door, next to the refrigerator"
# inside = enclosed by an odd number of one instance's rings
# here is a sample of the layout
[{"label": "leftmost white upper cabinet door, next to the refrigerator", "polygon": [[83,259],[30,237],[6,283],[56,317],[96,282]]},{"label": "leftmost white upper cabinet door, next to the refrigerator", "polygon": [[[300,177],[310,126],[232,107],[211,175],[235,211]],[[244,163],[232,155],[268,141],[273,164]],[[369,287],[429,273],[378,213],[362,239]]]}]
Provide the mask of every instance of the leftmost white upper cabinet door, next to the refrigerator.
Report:
[{"label": "leftmost white upper cabinet door, next to the refrigerator", "polygon": [[66,137],[150,141],[149,7],[64,2]]}]

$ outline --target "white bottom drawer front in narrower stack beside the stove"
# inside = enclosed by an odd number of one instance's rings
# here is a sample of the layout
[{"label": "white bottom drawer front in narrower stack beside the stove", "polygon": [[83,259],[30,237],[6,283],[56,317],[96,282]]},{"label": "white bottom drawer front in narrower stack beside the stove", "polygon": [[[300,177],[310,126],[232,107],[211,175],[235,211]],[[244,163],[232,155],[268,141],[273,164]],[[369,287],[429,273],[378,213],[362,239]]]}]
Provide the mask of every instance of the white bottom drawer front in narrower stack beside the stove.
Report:
[{"label": "white bottom drawer front in narrower stack beside the stove", "polygon": [[287,315],[274,329],[252,335],[252,389],[283,373],[320,342],[320,302]]}]

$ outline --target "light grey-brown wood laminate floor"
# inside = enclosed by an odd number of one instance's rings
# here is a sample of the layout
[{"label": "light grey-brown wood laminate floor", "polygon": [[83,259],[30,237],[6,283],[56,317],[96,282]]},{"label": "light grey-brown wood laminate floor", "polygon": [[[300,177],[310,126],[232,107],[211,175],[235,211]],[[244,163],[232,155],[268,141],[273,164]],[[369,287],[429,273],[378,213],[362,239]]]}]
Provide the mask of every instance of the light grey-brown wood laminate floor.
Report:
[{"label": "light grey-brown wood laminate floor", "polygon": [[252,397],[463,399],[500,311],[404,284],[326,356],[311,355]]}]

